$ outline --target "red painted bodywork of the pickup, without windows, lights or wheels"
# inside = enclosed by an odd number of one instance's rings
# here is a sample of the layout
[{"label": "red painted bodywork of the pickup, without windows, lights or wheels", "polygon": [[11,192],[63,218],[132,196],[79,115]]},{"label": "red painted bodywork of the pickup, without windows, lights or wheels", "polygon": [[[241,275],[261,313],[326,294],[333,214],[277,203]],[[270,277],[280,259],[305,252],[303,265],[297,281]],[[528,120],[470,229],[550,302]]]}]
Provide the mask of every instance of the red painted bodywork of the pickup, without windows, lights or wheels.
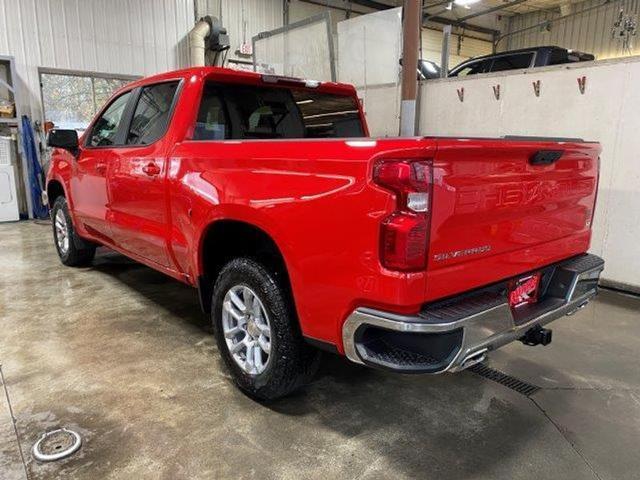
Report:
[{"label": "red painted bodywork of the pickup, without windows, lights or wheels", "polygon": [[[182,79],[167,134],[153,145],[53,154],[81,235],[195,285],[201,240],[219,220],[259,227],[283,254],[305,335],[342,349],[357,306],[417,312],[436,300],[585,252],[597,187],[597,144],[486,139],[189,140],[205,79],[258,85],[259,75],[198,68]],[[355,96],[347,85],[320,91]],[[538,150],[563,150],[532,166]],[[380,224],[393,194],[372,182],[376,160],[433,163],[425,271],[380,264]],[[145,167],[153,164],[157,175]],[[149,170],[148,168],[146,170]],[[427,246],[425,246],[427,248]]]}]

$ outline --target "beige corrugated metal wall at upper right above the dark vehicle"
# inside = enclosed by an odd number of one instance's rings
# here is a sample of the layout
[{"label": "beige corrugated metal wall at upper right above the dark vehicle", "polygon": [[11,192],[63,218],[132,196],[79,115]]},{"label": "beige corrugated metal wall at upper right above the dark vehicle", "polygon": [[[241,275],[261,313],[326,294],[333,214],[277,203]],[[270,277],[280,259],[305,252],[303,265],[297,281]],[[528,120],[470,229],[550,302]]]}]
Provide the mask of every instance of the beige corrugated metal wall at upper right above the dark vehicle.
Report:
[{"label": "beige corrugated metal wall at upper right above the dark vehicle", "polygon": [[[499,44],[500,50],[511,50],[537,45],[558,45],[588,53],[593,53],[598,59],[615,58],[630,53],[623,52],[622,41],[613,39],[611,29],[618,18],[620,8],[625,14],[638,15],[639,0],[614,0],[607,4],[604,0],[589,0],[573,5],[573,11],[603,5],[583,14],[559,20],[551,24],[551,30],[541,27],[532,28],[526,32],[507,37]],[[509,32],[537,25],[546,20],[560,17],[559,12],[535,12],[526,15],[516,15],[510,21]],[[640,53],[640,40],[635,40],[633,54]]]}]

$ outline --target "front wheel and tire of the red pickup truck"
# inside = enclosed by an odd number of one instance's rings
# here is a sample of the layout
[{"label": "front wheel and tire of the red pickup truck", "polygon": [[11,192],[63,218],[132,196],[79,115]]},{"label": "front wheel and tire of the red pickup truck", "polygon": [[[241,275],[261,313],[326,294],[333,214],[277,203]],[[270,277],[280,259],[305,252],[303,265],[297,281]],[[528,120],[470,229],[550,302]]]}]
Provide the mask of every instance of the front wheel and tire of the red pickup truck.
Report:
[{"label": "front wheel and tire of the red pickup truck", "polygon": [[76,233],[66,198],[56,198],[51,209],[51,224],[53,225],[53,243],[60,261],[68,267],[89,265],[96,254],[96,246],[80,238]]}]

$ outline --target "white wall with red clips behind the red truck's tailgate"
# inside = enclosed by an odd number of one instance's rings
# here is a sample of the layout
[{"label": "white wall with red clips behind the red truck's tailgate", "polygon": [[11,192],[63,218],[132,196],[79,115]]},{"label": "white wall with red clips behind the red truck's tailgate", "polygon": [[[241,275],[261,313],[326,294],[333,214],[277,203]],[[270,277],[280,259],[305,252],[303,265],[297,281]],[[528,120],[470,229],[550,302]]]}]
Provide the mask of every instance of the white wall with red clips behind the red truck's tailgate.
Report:
[{"label": "white wall with red clips behind the red truck's tailgate", "polygon": [[[577,79],[586,77],[580,94]],[[540,80],[541,93],[532,82]],[[600,194],[591,250],[605,280],[640,289],[640,57],[526,72],[425,82],[425,135],[581,137],[602,144]],[[500,100],[493,86],[500,85]],[[464,89],[464,101],[458,90]]]}]

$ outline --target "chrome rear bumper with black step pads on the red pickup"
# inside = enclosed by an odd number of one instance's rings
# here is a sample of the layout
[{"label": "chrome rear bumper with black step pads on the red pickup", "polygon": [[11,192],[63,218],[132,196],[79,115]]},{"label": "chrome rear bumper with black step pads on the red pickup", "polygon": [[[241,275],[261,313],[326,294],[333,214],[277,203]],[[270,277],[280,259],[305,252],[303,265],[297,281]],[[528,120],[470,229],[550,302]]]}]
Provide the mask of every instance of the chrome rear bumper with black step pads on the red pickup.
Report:
[{"label": "chrome rear bumper with black step pads on the red pickup", "polygon": [[415,316],[358,308],[345,321],[347,357],[403,373],[456,372],[531,328],[584,307],[598,292],[604,261],[581,255],[542,270],[540,299],[513,309],[507,282],[426,305]]}]

